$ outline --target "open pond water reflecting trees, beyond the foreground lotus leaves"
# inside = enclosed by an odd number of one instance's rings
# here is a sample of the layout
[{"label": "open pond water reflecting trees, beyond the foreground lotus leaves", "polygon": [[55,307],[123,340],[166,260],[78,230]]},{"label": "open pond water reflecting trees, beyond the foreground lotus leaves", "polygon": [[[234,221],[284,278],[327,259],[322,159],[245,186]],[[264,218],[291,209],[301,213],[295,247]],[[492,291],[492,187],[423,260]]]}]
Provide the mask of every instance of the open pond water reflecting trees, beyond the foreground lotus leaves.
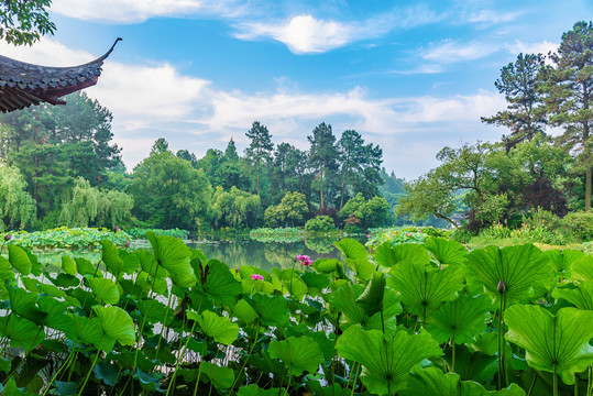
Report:
[{"label": "open pond water reflecting trees, beyond the foreground lotus leaves", "polygon": [[[361,243],[366,242],[366,238],[358,237]],[[204,240],[188,241],[189,248],[199,249],[208,258],[220,260],[235,267],[241,265],[252,265],[262,270],[290,268],[297,254],[306,254],[314,261],[318,258],[340,258],[340,252],[334,248],[333,242],[337,237],[309,238],[296,242],[259,242],[249,237],[229,240]],[[147,241],[134,241],[131,249],[150,249]],[[101,258],[99,252],[35,252],[40,261],[47,266],[61,266],[62,255],[85,257],[92,263]]]}]

